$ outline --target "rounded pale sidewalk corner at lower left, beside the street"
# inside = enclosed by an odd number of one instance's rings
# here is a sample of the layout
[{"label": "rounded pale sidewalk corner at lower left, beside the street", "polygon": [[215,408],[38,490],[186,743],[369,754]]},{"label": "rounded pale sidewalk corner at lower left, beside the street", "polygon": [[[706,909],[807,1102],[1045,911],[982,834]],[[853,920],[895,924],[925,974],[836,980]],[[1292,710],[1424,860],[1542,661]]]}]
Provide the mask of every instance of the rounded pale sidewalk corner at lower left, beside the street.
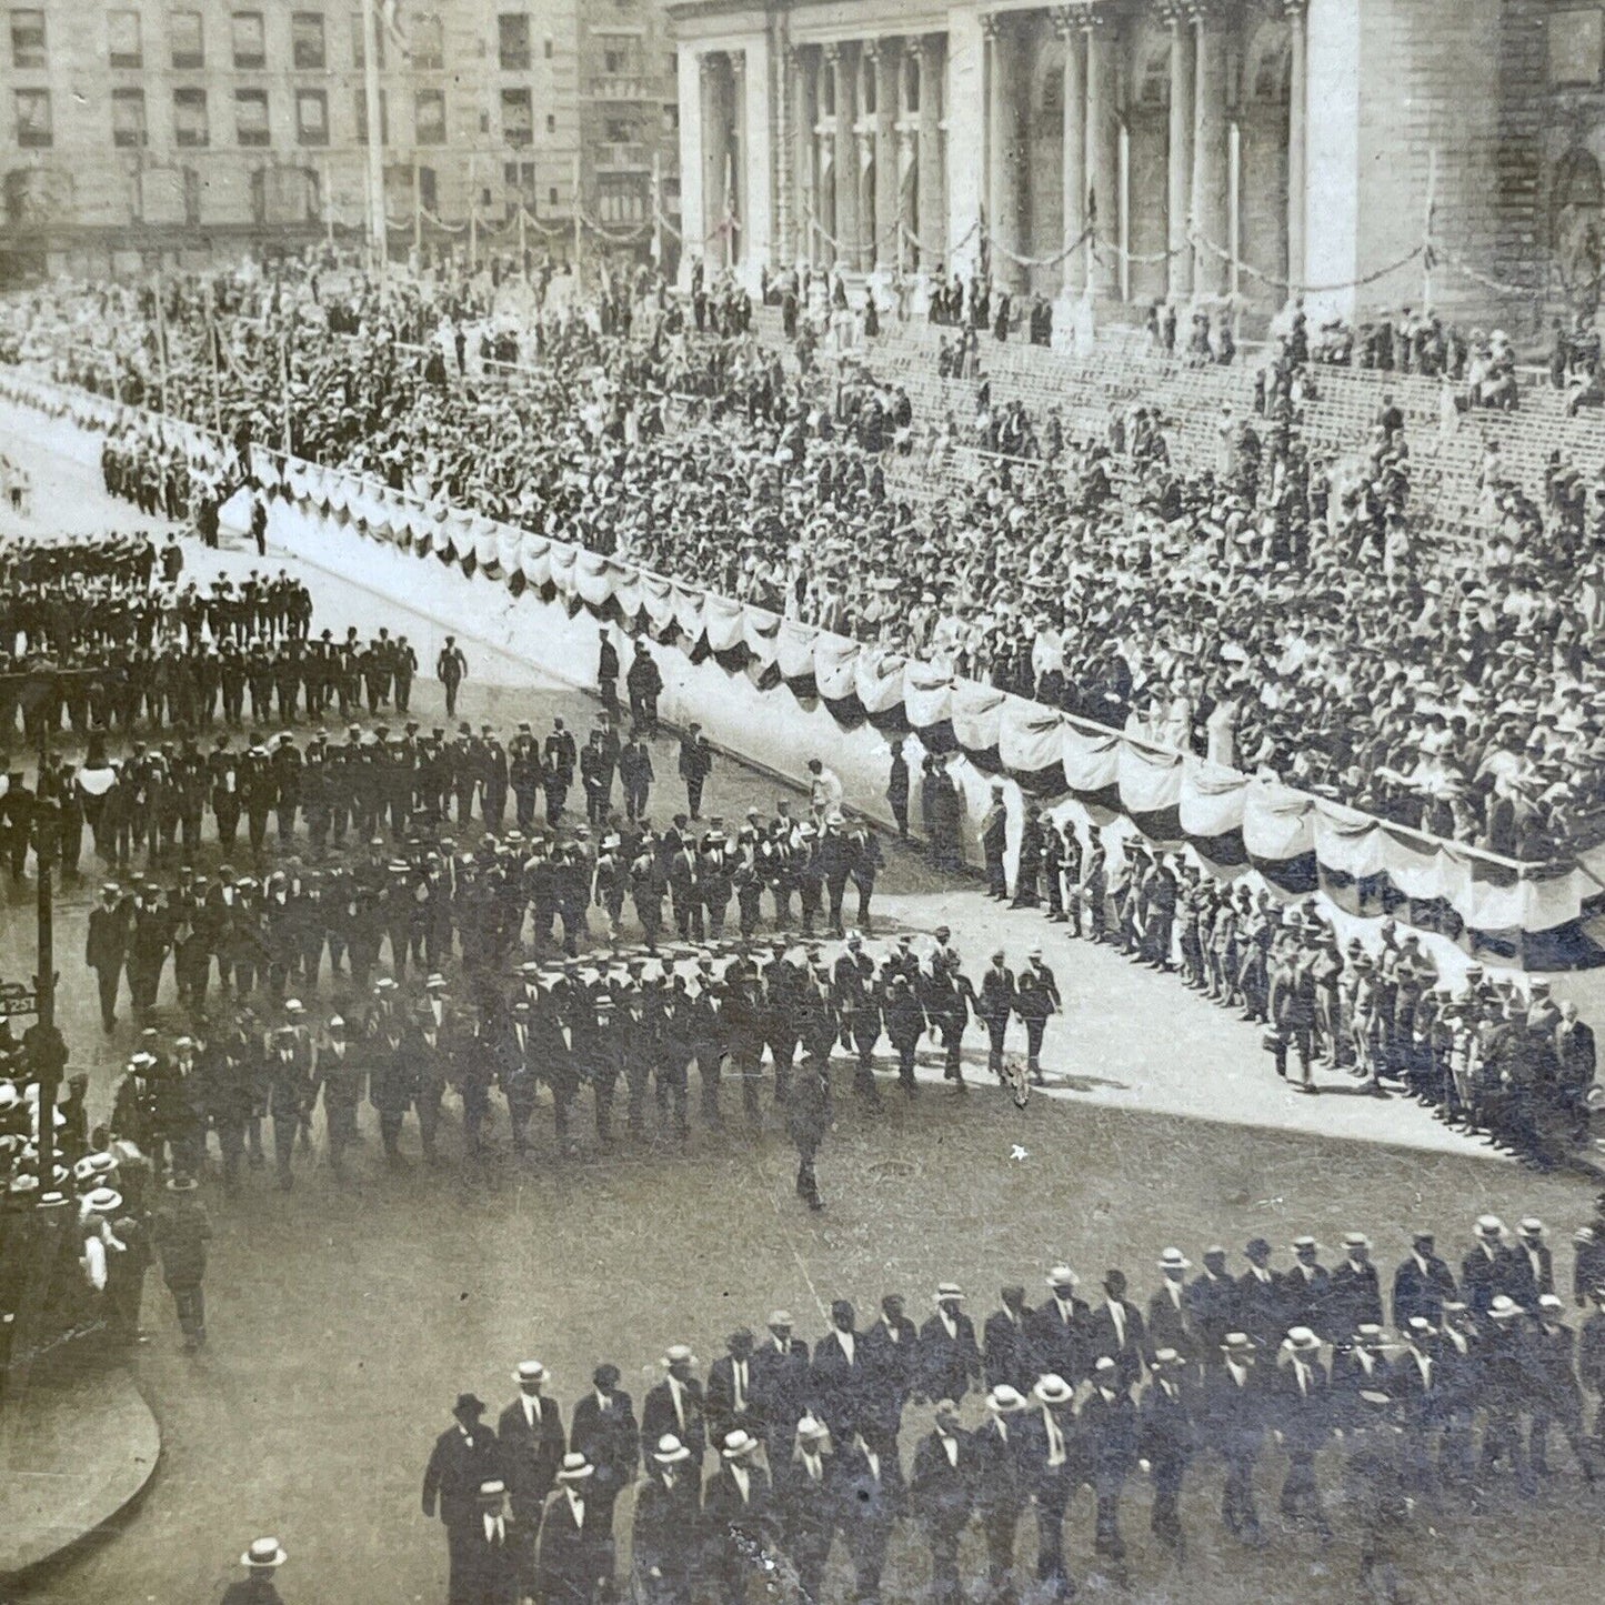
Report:
[{"label": "rounded pale sidewalk corner at lower left, beside the street", "polygon": [[101,1531],[156,1473],[162,1435],[124,1366],[35,1372],[0,1404],[0,1584]]}]

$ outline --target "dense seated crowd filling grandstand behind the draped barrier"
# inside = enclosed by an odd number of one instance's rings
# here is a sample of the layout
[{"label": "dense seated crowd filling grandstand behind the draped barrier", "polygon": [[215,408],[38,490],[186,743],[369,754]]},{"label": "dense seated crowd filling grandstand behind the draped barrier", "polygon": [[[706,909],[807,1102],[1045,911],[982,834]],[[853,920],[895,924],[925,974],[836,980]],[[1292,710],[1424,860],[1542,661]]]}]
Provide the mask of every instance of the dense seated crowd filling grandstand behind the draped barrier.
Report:
[{"label": "dense seated crowd filling grandstand behind the draped barrier", "polygon": [[[170,343],[204,324],[207,282],[167,286]],[[449,326],[451,284],[404,292],[408,329],[419,297]],[[1212,462],[1175,461],[1172,421],[1141,404],[1095,440],[1034,419],[1043,457],[989,459],[916,510],[892,448],[936,421],[891,385],[798,379],[740,316],[721,334],[677,327],[679,302],[650,281],[542,334],[517,384],[472,363],[440,372],[449,335],[403,350],[403,292],[315,302],[305,279],[274,279],[210,294],[276,332],[246,329],[217,380],[236,469],[239,446],[278,443],[282,350],[299,454],[1512,857],[1592,828],[1605,504],[1571,470],[1539,507],[1491,449],[1478,549],[1424,542],[1390,398],[1379,390],[1350,451],[1306,445],[1318,368],[1302,313],[1263,360],[1258,411],[1223,411]],[[59,291],[13,311],[42,340],[77,316]],[[332,321],[356,332],[331,340]],[[114,363],[148,374],[152,326],[135,318],[127,340],[72,347],[61,376],[111,392]],[[169,404],[205,422],[213,379],[183,350]],[[660,433],[687,363],[721,427]],[[1026,427],[987,387],[979,409]],[[151,422],[128,432],[122,449],[175,451]]]}]

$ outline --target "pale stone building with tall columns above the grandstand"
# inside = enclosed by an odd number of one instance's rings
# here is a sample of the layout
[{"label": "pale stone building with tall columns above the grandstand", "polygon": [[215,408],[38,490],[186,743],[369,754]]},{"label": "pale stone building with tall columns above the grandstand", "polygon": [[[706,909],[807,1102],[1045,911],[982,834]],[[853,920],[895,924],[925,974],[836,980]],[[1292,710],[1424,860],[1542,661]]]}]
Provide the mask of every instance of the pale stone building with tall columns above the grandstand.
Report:
[{"label": "pale stone building with tall columns above the grandstand", "polygon": [[[1432,191],[1440,307],[1531,331],[1594,294],[1605,6],[669,0],[669,13],[685,234],[753,274],[796,258],[963,268],[984,225],[992,271],[1050,295],[1236,292],[1268,308],[1284,295],[1274,281],[1298,281],[1342,286],[1310,297],[1331,311],[1419,307],[1428,263],[1388,268],[1422,242]],[[1083,230],[1096,254],[1042,260]]]}]

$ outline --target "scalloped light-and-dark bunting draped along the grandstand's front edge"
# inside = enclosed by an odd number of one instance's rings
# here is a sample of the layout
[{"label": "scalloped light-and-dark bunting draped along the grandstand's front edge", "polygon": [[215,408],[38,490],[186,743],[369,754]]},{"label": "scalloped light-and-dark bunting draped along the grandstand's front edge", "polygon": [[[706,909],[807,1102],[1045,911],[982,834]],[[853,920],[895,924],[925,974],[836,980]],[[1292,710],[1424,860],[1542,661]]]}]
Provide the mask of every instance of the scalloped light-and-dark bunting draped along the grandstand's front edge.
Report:
[{"label": "scalloped light-and-dark bunting draped along the grandstand's front edge", "polygon": [[1605,907],[1600,883],[1578,863],[1514,863],[1424,836],[1274,778],[1159,748],[953,679],[941,666],[709,595],[620,557],[255,451],[263,482],[316,517],[348,522],[417,555],[433,551],[467,571],[560,597],[571,610],[618,618],[693,660],[713,655],[721,668],[772,687],[772,695],[785,690],[804,705],[823,705],[844,729],[870,721],[881,730],[912,732],[928,753],[957,750],[969,759],[961,788],[977,817],[989,777],[1003,775],[1027,798],[1074,799],[1099,822],[1124,820],[1122,828],[1157,844],[1189,846],[1215,867],[1252,863],[1289,892],[1361,888],[1372,900],[1440,910],[1436,928],[1457,923],[1504,941],[1557,933]]}]

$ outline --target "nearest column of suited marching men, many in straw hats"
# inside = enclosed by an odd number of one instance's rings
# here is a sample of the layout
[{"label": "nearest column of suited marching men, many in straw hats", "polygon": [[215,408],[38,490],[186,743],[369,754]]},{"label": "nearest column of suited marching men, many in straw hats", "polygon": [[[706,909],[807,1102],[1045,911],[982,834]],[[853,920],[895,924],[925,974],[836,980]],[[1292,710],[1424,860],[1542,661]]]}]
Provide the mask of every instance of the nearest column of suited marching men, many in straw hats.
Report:
[{"label": "nearest column of suited marching men, many in straw hats", "polygon": [[[1457,1271],[1422,1229],[1388,1282],[1350,1233],[1331,1270],[1310,1237],[1295,1239],[1286,1270],[1265,1239],[1250,1241],[1241,1273],[1221,1247],[1197,1274],[1167,1249],[1146,1310],[1119,1270],[1083,1298],[1075,1273],[1054,1266],[1038,1306],[1005,1287],[979,1334],[955,1282],[936,1289],[921,1326],[897,1295],[867,1329],[838,1300],[812,1348],[775,1310],[762,1335],[730,1332],[706,1382],[690,1347],[671,1345],[639,1417],[620,1369],[599,1366],[567,1432],[546,1367],[526,1361],[494,1430],[464,1393],[430,1456],[424,1512],[446,1526],[449,1600],[613,1597],[631,1486],[634,1583],[652,1602],[729,1605],[775,1579],[822,1599],[833,1554],[847,1597],[875,1600],[899,1523],[928,1550],[945,1605],[968,1592],[966,1563],[984,1568],[992,1600],[1032,1579],[1067,1599],[1066,1522],[1082,1491],[1095,1563],[1119,1581],[1122,1515],[1141,1481],[1154,1541],[1178,1560],[1189,1485],[1218,1486],[1226,1531],[1262,1546],[1270,1483],[1295,1539],[1324,1544],[1351,1525],[1363,1583],[1392,1599],[1417,1502],[1448,1512],[1481,1510],[1504,1489],[1531,1497],[1557,1438],[1599,1481],[1605,1196],[1600,1212],[1578,1241],[1581,1332],[1554,1290],[1542,1223],[1512,1236],[1483,1217]],[[979,1425],[966,1424],[973,1395]]]}]

